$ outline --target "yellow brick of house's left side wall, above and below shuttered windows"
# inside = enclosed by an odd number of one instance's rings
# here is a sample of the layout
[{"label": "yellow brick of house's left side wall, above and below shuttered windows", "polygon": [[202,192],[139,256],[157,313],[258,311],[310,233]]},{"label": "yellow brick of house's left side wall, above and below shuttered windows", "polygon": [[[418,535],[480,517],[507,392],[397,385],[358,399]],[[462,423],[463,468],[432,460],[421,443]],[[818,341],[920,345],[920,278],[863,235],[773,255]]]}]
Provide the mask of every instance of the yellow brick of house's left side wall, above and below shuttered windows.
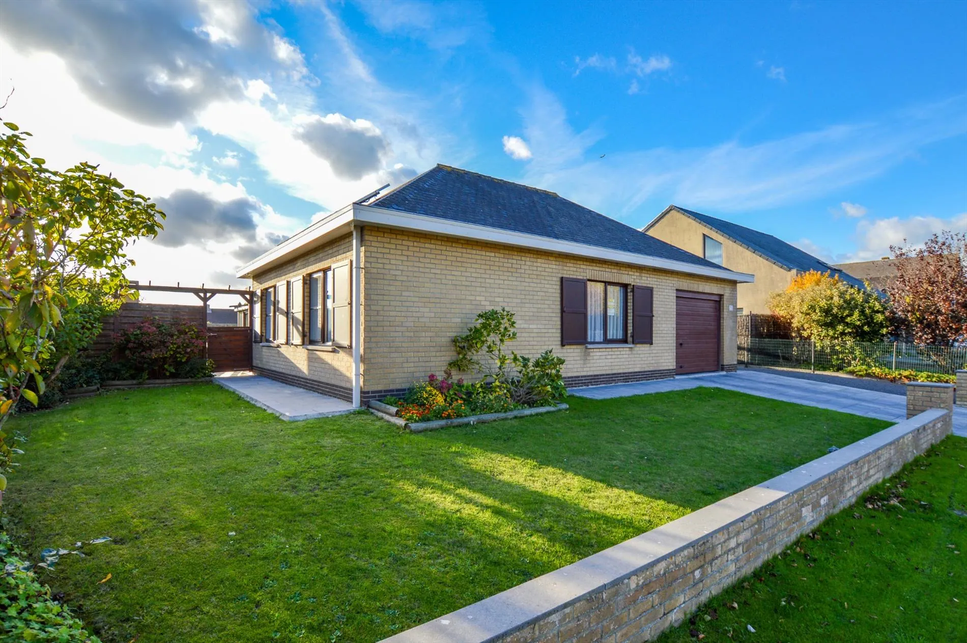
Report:
[{"label": "yellow brick of house's left side wall, above and below shuttered windows", "polygon": [[[281,266],[255,275],[252,278],[252,288],[259,291],[287,279],[300,278],[328,268],[335,263],[351,259],[352,250],[353,237],[351,234],[345,235],[325,246],[313,248]],[[259,321],[261,322],[261,317]],[[276,347],[255,344],[252,346],[252,364],[255,367],[278,370],[338,387],[352,388],[353,352],[351,348],[336,348],[333,352],[322,352],[300,345],[280,344]]]}]

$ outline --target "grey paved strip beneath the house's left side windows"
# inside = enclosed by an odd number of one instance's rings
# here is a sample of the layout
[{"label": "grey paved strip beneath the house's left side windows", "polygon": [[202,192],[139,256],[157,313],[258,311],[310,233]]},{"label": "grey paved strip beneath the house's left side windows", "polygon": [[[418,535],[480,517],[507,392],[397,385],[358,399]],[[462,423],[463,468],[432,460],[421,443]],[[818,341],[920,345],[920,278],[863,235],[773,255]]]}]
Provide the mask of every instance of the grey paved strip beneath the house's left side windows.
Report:
[{"label": "grey paved strip beneath the house's left side windows", "polygon": [[326,418],[354,410],[350,402],[253,375],[247,370],[219,373],[213,381],[286,421]]}]

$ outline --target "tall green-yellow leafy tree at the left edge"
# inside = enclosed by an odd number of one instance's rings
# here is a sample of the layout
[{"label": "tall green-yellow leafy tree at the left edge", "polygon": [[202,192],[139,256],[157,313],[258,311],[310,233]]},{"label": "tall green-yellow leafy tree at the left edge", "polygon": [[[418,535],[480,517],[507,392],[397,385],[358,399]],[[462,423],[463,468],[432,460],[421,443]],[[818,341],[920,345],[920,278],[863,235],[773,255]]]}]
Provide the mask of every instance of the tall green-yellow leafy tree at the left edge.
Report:
[{"label": "tall green-yellow leafy tree at the left edge", "polygon": [[[21,395],[44,393],[42,363],[54,354],[65,313],[94,290],[125,294],[124,250],[155,236],[164,215],[145,196],[82,162],[64,171],[31,157],[14,123],[0,124],[0,471],[11,445],[3,426]],[[96,287],[92,284],[96,284]],[[77,329],[74,329],[77,330]],[[89,331],[89,329],[88,329]],[[85,331],[80,331],[81,334]],[[37,393],[27,388],[33,379]],[[5,482],[5,481],[0,481]]]}]

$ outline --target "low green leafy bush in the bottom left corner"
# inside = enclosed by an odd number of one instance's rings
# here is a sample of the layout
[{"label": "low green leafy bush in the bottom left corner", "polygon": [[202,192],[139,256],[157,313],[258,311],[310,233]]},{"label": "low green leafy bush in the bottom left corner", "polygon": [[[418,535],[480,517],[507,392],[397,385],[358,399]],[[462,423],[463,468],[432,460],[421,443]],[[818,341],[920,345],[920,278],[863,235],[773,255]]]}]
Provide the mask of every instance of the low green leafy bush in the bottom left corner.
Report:
[{"label": "low green leafy bush in the bottom left corner", "polygon": [[5,641],[100,643],[84,631],[67,606],[50,596],[50,588],[37,580],[10,540],[0,532],[3,557],[3,591],[0,592],[0,634]]}]

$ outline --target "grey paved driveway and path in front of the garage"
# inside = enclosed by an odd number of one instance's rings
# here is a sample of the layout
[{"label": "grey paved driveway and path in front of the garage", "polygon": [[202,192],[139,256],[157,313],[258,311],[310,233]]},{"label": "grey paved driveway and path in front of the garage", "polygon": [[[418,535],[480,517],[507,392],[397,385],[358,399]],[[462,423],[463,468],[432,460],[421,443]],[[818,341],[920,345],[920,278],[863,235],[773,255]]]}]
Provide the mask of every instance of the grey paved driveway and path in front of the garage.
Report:
[{"label": "grey paved driveway and path in front of the garage", "polygon": [[[607,386],[571,389],[569,393],[593,399],[608,399],[625,395],[682,391],[700,386],[771,397],[891,422],[906,420],[906,397],[904,395],[865,391],[864,389],[854,389],[828,382],[784,377],[761,370],[740,369],[736,373],[709,373],[655,382],[609,384]],[[954,407],[953,433],[967,437],[967,408]]]}]

